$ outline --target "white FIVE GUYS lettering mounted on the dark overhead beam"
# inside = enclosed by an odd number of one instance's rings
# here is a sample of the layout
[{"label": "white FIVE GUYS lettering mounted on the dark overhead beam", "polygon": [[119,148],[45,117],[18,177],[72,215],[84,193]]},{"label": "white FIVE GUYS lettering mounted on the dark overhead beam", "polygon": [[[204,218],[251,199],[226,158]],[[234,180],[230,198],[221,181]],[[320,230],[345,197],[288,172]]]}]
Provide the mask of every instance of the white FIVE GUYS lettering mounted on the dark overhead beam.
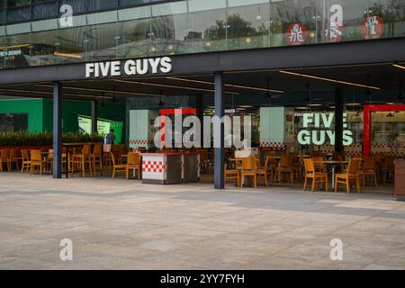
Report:
[{"label": "white FIVE GUYS lettering mounted on the dark overhead beam", "polygon": [[167,74],[171,71],[172,59],[169,57],[114,60],[85,64],[86,78],[143,76],[160,73]]}]

